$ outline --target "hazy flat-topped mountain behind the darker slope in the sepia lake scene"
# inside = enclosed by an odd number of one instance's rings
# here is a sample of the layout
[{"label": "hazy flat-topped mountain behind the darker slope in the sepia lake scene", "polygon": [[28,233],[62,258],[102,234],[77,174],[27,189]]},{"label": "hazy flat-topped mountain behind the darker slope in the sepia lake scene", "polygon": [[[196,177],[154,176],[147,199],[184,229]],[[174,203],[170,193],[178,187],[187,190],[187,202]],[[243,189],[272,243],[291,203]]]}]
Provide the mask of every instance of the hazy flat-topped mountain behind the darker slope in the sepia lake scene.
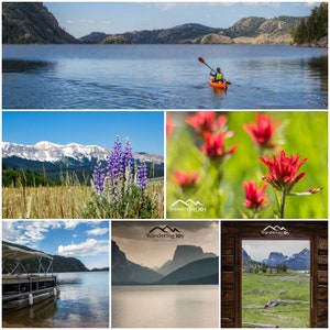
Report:
[{"label": "hazy flat-topped mountain behind the darker slope in the sepia lake scene", "polygon": [[170,261],[161,266],[157,272],[164,275],[197,260],[216,257],[215,253],[205,253],[201,248],[194,245],[178,245]]}]

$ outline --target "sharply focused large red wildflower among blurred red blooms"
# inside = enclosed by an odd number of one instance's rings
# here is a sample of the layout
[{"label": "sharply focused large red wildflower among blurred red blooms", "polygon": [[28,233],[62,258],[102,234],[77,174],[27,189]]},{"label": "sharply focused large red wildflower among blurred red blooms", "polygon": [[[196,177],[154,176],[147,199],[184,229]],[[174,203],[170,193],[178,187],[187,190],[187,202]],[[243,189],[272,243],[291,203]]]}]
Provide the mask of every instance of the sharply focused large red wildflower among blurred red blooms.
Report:
[{"label": "sharply focused large red wildflower among blurred red blooms", "polygon": [[300,155],[286,156],[282,151],[278,156],[273,156],[273,161],[268,155],[260,157],[260,160],[267,165],[270,172],[263,180],[271,184],[274,188],[286,194],[290,193],[294,185],[298,183],[305,175],[305,172],[298,174],[300,166],[307,161],[304,158],[299,161]]}]

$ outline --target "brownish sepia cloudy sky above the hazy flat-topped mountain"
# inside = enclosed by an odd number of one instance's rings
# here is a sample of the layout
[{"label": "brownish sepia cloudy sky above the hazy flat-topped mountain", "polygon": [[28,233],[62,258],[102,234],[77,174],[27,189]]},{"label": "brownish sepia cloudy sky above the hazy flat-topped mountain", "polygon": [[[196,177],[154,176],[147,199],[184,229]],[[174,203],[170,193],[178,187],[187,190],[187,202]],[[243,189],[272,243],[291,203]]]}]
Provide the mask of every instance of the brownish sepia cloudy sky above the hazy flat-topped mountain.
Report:
[{"label": "brownish sepia cloudy sky above the hazy flat-topped mountain", "polygon": [[[177,239],[150,239],[155,227],[177,229],[183,235]],[[154,233],[160,233],[155,230]],[[173,258],[177,245],[200,246],[204,252],[219,255],[219,223],[213,221],[112,221],[111,238],[131,262],[143,266],[162,266]]]}]

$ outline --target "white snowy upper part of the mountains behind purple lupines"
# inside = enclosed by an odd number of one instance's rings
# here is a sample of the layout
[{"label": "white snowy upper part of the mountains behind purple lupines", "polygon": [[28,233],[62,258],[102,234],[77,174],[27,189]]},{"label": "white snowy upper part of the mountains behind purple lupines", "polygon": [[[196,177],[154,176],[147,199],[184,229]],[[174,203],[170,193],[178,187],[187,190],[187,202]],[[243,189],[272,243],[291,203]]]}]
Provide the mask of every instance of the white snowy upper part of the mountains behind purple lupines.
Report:
[{"label": "white snowy upper part of the mountains behind purple lupines", "polygon": [[[16,144],[11,142],[2,143],[2,158],[19,157],[29,161],[56,163],[65,158],[75,161],[100,160],[103,161],[110,155],[110,150],[98,145],[82,145],[69,143],[66,145],[55,144],[47,141],[41,141],[34,145]],[[135,160],[154,162],[162,164],[163,157],[147,153],[133,153]]]}]

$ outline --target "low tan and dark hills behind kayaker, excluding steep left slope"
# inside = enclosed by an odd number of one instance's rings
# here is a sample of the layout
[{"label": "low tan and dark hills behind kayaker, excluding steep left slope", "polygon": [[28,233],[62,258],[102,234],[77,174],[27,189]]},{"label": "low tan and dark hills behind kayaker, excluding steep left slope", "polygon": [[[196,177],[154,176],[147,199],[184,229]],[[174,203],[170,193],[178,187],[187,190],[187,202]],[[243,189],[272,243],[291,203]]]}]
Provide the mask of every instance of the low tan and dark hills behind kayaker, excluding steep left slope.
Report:
[{"label": "low tan and dark hills behind kayaker, excluding steep left slope", "polygon": [[187,23],[170,29],[143,30],[122,34],[92,32],[79,40],[101,44],[234,44],[234,43],[290,43],[290,31],[301,18],[278,16],[244,18],[229,29],[209,28]]}]

